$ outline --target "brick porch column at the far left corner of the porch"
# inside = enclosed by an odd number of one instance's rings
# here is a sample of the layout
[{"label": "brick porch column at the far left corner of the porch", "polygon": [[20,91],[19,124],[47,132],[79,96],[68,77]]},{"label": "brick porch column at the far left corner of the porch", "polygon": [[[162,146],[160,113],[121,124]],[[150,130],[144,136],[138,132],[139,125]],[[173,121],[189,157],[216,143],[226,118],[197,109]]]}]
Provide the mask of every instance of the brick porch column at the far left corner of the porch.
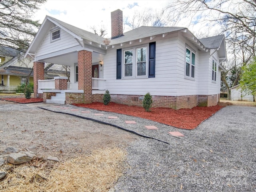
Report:
[{"label": "brick porch column at the far left corner of the porch", "polygon": [[38,94],[38,80],[44,80],[44,63],[34,62],[34,97],[43,98],[43,94]]}]

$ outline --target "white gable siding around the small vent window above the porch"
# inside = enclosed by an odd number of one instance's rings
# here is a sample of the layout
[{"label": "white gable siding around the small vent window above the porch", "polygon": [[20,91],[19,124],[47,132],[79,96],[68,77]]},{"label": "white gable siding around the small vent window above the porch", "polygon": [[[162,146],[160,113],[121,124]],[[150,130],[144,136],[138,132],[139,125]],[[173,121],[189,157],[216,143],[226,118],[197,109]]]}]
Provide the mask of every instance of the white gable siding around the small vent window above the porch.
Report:
[{"label": "white gable siding around the small vent window above the porch", "polygon": [[36,56],[42,56],[79,45],[72,35],[62,29],[60,29],[60,40],[51,42],[51,30],[54,28],[56,27],[52,24],[40,46],[38,46],[38,49],[36,50]]}]

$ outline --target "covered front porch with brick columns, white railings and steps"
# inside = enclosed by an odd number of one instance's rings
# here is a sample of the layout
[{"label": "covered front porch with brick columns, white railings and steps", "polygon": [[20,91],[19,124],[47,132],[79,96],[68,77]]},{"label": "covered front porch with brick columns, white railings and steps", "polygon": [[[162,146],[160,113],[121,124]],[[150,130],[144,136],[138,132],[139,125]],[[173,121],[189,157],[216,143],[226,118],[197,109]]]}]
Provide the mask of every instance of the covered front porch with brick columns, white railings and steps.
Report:
[{"label": "covered front porch with brick columns, white railings and steps", "polygon": [[[102,100],[105,92],[103,77],[103,55],[80,50],[34,62],[34,97],[44,102],[71,104],[90,103]],[[101,65],[99,64],[101,61]],[[44,80],[44,63],[61,64],[70,67],[70,82],[66,77]]]}]

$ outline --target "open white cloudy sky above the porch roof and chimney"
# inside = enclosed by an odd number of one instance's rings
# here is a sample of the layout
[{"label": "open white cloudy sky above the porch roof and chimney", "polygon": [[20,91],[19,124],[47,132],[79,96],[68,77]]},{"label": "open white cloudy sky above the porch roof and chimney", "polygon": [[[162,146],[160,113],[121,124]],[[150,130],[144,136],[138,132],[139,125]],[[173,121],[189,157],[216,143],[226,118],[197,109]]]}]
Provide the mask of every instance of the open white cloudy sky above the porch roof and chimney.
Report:
[{"label": "open white cloudy sky above the porch roof and chimney", "polygon": [[134,12],[152,8],[161,10],[170,0],[48,0],[36,12],[35,19],[42,22],[46,15],[62,20],[68,24],[91,31],[90,27],[106,26],[109,37],[111,34],[110,13],[120,9],[123,16],[132,16]]}]

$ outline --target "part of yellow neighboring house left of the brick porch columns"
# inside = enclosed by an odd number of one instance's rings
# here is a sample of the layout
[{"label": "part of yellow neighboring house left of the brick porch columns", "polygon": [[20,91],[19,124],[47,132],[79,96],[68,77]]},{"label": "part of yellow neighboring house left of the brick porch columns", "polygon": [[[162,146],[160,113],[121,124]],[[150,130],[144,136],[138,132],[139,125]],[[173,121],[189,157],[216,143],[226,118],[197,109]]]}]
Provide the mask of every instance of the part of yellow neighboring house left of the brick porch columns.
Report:
[{"label": "part of yellow neighboring house left of the brick porch columns", "polygon": [[19,59],[21,54],[14,48],[0,47],[0,92],[15,92],[20,84],[33,82],[33,62],[31,59]]}]

